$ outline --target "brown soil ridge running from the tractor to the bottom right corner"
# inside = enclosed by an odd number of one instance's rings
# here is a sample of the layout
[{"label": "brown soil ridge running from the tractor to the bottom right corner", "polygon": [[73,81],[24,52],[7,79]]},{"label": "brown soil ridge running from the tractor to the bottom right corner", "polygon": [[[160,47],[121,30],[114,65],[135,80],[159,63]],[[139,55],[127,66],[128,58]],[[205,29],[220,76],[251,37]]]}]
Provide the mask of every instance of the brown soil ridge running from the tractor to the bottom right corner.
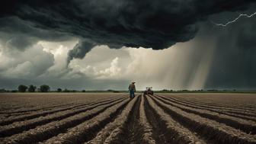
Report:
[{"label": "brown soil ridge running from the tractor to the bottom right corner", "polygon": [[248,135],[247,133],[243,133],[240,130],[226,126],[225,124],[217,123],[214,120],[209,120],[195,114],[187,113],[177,107],[172,107],[162,101],[158,101],[154,97],[151,98],[159,107],[162,107],[166,113],[174,118],[174,120],[177,120],[183,126],[199,133],[200,136],[203,136],[210,141],[214,141],[219,144],[256,143],[255,136]]}]

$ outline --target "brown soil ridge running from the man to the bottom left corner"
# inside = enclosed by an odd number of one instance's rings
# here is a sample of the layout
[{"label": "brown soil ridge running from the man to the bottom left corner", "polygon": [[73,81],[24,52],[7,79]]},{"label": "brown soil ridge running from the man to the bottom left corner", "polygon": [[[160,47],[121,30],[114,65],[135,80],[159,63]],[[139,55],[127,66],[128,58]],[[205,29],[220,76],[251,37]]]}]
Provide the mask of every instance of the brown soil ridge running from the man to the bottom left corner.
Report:
[{"label": "brown soil ridge running from the man to the bottom left corner", "polygon": [[53,121],[52,123],[47,123],[43,126],[37,126],[35,129],[24,131],[23,133],[18,133],[16,135],[6,137],[2,139],[3,143],[36,143],[42,142],[43,140],[50,139],[53,136],[57,136],[59,133],[65,133],[69,128],[84,123],[86,120],[101,114],[107,108],[113,107],[115,105],[126,104],[128,98],[125,101],[116,101],[104,106],[96,107],[92,110],[88,110],[84,113],[77,114],[72,117],[68,117],[63,120]]}]

